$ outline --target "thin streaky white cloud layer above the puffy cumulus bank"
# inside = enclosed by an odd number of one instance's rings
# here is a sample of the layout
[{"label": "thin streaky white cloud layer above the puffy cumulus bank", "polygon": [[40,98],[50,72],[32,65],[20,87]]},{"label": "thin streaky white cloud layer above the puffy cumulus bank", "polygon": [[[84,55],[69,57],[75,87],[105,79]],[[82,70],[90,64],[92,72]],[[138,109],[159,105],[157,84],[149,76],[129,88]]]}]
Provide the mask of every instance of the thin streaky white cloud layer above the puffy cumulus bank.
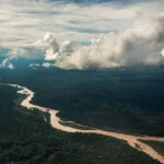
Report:
[{"label": "thin streaky white cloud layer above the puffy cumulus bank", "polygon": [[56,34],[58,40],[87,42],[96,37],[97,33],[127,28],[138,12],[163,9],[163,3],[157,1],[128,7],[117,3],[80,5],[28,0],[0,0],[0,45],[8,48],[34,43],[47,31]]}]

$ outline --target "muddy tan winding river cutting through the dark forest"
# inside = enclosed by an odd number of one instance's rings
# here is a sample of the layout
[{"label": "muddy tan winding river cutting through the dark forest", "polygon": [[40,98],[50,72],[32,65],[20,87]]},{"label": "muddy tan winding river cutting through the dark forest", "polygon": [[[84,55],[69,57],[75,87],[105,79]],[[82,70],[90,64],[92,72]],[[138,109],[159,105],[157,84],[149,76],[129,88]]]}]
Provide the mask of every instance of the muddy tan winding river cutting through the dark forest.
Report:
[{"label": "muddy tan winding river cutting through the dark forest", "polygon": [[62,131],[67,131],[67,132],[98,133],[98,134],[114,137],[114,138],[117,138],[120,140],[125,140],[129,143],[130,147],[147,153],[151,157],[153,157],[153,159],[160,161],[162,164],[164,164],[164,156],[159,154],[150,145],[139,141],[139,139],[141,139],[141,140],[153,140],[153,141],[164,141],[164,138],[147,137],[147,136],[145,137],[138,137],[138,136],[131,136],[131,134],[125,134],[125,133],[118,133],[118,132],[112,132],[112,131],[104,131],[104,130],[99,130],[99,129],[80,130],[80,129],[74,129],[71,127],[62,126],[59,124],[62,120],[60,120],[60,118],[57,117],[57,113],[59,113],[59,110],[50,109],[50,108],[38,106],[38,105],[34,105],[31,103],[31,101],[35,94],[33,91],[28,90],[25,86],[21,86],[17,84],[8,84],[8,85],[13,86],[13,87],[17,87],[19,89],[17,93],[27,95],[26,98],[23,99],[23,102],[21,103],[22,106],[24,106],[26,108],[37,108],[42,112],[49,112],[51,127],[59,129],[59,130],[62,130]]}]

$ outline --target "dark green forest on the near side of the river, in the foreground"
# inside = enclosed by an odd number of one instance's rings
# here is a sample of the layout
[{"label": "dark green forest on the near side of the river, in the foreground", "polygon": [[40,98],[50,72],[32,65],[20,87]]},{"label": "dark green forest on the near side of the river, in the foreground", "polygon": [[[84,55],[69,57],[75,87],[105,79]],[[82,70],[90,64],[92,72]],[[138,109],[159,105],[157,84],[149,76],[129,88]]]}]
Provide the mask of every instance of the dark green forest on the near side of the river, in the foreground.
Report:
[{"label": "dark green forest on the near side of the river, in the foreground", "polygon": [[157,164],[125,141],[52,129],[47,113],[19,105],[16,89],[0,85],[1,164]]}]

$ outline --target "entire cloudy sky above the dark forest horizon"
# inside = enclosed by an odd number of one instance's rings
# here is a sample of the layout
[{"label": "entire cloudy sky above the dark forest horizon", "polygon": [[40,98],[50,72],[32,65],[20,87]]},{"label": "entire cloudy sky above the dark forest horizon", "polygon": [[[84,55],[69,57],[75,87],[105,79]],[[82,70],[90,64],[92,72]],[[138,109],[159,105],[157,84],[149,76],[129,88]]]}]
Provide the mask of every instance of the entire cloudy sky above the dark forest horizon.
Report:
[{"label": "entire cloudy sky above the dark forest horizon", "polygon": [[0,0],[0,68],[104,69],[161,65],[163,0]]}]

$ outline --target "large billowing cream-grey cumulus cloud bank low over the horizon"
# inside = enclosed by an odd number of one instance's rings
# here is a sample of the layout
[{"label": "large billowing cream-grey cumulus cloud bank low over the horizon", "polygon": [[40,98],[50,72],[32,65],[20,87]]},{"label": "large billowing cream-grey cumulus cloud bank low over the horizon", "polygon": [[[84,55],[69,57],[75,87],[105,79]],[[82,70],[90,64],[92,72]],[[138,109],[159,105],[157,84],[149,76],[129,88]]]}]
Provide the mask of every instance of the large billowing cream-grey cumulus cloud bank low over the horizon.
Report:
[{"label": "large billowing cream-grey cumulus cloud bank low over the horizon", "polygon": [[131,28],[102,34],[91,40],[91,46],[58,43],[51,33],[35,45],[48,46],[45,60],[62,69],[160,65],[164,56],[164,13],[142,13]]}]

